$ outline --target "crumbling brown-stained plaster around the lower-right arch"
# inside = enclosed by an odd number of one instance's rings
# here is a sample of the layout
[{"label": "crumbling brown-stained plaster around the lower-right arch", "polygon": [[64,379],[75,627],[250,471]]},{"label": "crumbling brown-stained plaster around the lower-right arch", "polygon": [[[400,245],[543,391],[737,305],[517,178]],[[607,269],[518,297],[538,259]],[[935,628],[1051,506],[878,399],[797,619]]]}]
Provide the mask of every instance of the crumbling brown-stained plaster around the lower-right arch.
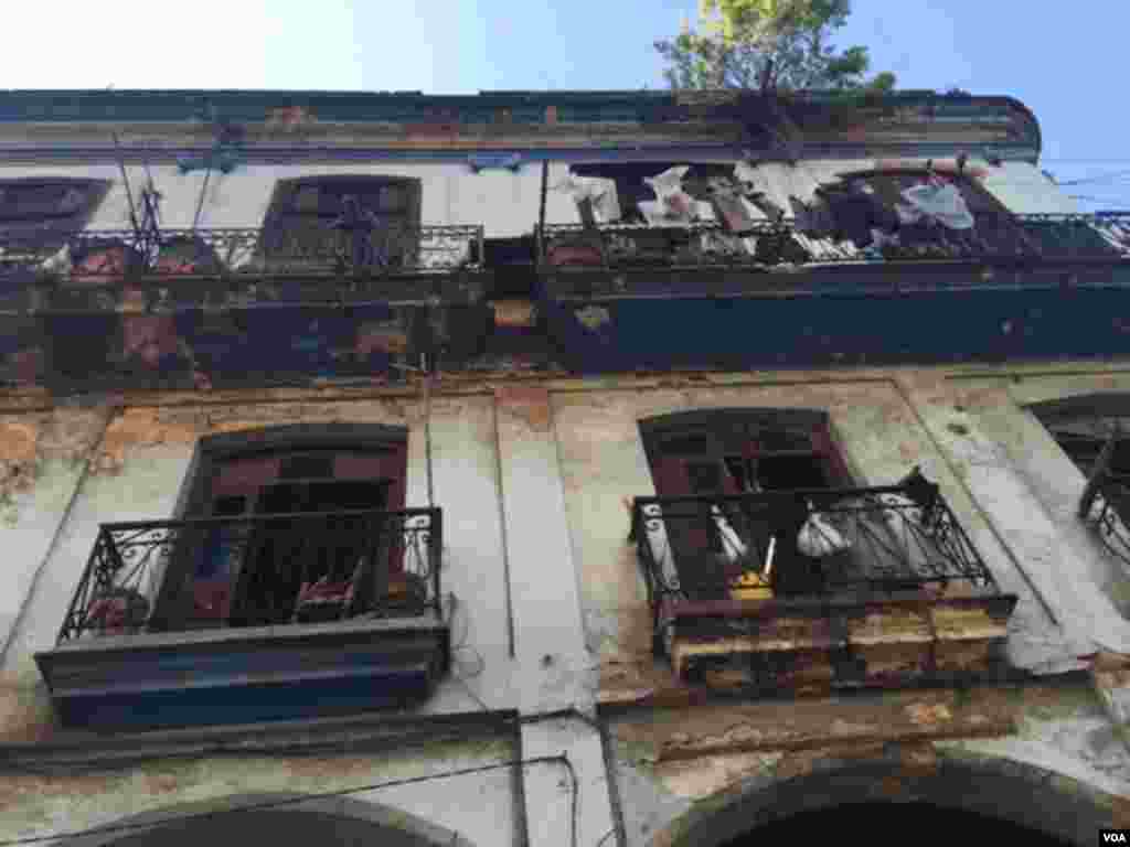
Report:
[{"label": "crumbling brown-stained plaster around the lower-right arch", "polygon": [[[1015,724],[1012,734],[999,732],[1006,718]],[[988,732],[979,733],[979,724]],[[1068,804],[1084,787],[1097,791],[1114,820],[1130,820],[1130,803],[1119,800],[1130,794],[1130,753],[1085,683],[661,710],[616,719],[611,732],[633,847],[719,842],[709,830],[696,829],[719,811],[737,813],[737,804],[746,803],[747,826],[753,826],[764,818],[762,804],[749,803],[755,793],[868,762],[878,763],[886,780],[866,784],[861,774],[857,793],[876,800],[912,798],[916,776],[936,775],[947,765],[994,760],[1018,777],[1044,774],[1034,778],[1062,787]],[[741,745],[721,752],[725,734]],[[977,734],[984,737],[971,737]],[[976,774],[965,779],[975,793]],[[852,783],[850,772],[845,783]],[[1024,779],[1014,786],[1019,793],[1025,788]],[[835,801],[819,793],[814,783],[814,801]],[[1016,805],[1002,803],[1001,809]]]}]

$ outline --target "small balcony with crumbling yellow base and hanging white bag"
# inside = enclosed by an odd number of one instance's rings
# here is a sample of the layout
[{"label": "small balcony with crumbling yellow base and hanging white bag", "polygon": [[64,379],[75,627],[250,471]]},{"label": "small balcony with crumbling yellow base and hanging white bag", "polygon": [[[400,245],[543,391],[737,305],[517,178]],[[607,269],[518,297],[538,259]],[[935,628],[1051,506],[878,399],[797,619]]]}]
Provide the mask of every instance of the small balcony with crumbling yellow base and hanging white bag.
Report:
[{"label": "small balcony with crumbling yellow base and hanging white bag", "polygon": [[653,648],[685,683],[902,686],[1000,670],[1000,593],[937,486],[638,497]]}]

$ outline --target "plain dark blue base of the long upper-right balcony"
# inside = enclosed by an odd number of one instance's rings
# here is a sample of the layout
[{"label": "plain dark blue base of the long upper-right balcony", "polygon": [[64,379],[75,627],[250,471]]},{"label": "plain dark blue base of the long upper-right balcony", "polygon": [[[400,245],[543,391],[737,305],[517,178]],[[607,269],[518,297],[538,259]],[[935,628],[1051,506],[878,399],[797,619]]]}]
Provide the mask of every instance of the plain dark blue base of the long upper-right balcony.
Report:
[{"label": "plain dark blue base of the long upper-right balcony", "polygon": [[584,296],[563,274],[541,287],[539,305],[558,359],[580,373],[1130,356],[1121,269],[1095,282],[1016,274],[1011,285],[945,288],[909,274],[903,290],[858,276],[835,287],[777,278],[779,290],[745,295],[695,296],[689,285],[649,295],[640,281],[621,296]]}]

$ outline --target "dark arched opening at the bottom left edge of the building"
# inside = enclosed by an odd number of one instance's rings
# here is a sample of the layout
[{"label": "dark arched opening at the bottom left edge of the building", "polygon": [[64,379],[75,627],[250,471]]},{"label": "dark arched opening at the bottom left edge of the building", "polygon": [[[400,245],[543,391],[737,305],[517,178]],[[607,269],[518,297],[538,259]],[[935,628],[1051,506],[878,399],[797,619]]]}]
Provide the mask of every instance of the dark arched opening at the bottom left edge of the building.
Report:
[{"label": "dark arched opening at the bottom left edge of the building", "polygon": [[444,827],[399,809],[353,797],[249,794],[146,812],[66,847],[472,847]]}]

